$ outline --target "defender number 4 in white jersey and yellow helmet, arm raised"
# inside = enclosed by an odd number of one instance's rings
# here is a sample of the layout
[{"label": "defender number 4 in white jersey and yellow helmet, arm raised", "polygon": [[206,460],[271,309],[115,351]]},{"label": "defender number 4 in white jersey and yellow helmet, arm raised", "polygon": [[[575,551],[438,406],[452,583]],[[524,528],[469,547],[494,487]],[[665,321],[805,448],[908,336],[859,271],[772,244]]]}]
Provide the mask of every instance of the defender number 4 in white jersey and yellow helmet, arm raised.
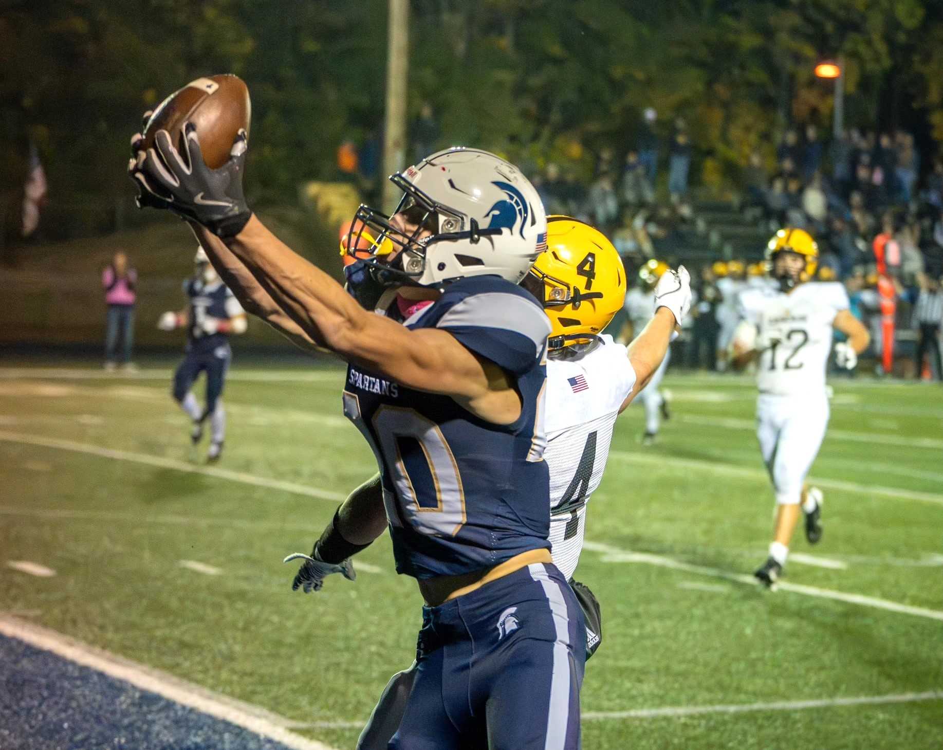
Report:
[{"label": "defender number 4 in white jersey and yellow helmet, arm raised", "polygon": [[[550,541],[554,564],[570,580],[584,610],[588,657],[602,638],[599,604],[587,586],[572,580],[583,548],[587,502],[603,478],[616,418],[650,380],[676,323],[690,308],[690,283],[684,268],[673,272],[666,266],[649,297],[643,329],[625,347],[603,334],[625,294],[625,270],[616,248],[597,229],[565,216],[547,218],[547,242],[521,286],[543,303],[552,324],[543,454],[550,469]],[[387,302],[389,296],[381,297],[380,307],[386,310]],[[368,506],[382,513],[380,502],[370,499],[375,489],[375,482],[366,483],[345,505],[362,508],[364,526],[382,530],[382,518],[368,520],[373,512]],[[306,591],[320,588],[320,579],[302,583]],[[357,750],[385,750],[413,677],[410,668],[389,680]]]}]

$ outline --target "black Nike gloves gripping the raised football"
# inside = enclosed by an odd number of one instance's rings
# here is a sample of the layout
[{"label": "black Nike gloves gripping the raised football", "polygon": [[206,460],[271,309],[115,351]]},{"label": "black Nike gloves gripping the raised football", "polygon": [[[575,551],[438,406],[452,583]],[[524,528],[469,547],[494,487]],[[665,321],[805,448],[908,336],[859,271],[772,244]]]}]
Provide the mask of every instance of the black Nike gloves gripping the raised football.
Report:
[{"label": "black Nike gloves gripping the raised football", "polygon": [[240,130],[229,160],[219,169],[210,169],[203,160],[195,125],[184,125],[184,135],[182,156],[166,130],[157,131],[157,150],[141,151],[136,148],[141,138],[132,139],[137,156],[128,164],[128,174],[139,187],[138,206],[169,209],[218,237],[235,237],[252,216],[242,194],[248,147],[245,131]]}]

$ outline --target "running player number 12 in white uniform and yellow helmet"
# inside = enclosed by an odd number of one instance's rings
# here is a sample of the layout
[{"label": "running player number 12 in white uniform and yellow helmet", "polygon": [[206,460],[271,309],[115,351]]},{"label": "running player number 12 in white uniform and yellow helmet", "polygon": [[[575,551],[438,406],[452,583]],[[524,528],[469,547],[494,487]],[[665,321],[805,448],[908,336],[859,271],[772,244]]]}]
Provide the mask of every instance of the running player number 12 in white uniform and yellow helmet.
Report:
[{"label": "running player number 12 in white uniform and yellow helmet", "polygon": [[767,248],[769,270],[779,289],[740,294],[741,323],[733,354],[738,364],[757,359],[756,434],[777,504],[769,558],[755,573],[769,587],[783,573],[800,512],[808,541],[821,539],[822,493],[805,485],[805,475],[828,424],[825,366],[832,329],[848,336],[848,342],[835,344],[839,367],[851,370],[869,342],[868,330],[849,310],[845,288],[809,282],[818,257],[818,246],[807,232],[780,229]]}]

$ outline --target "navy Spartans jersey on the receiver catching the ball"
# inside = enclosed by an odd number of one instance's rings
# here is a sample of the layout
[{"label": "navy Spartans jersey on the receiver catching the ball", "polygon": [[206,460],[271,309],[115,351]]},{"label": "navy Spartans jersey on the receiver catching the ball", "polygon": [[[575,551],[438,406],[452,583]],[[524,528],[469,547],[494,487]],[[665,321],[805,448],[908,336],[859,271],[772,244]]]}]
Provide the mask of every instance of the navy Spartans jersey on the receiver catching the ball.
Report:
[{"label": "navy Spartans jersey on the receiver catching the ball", "polygon": [[502,367],[516,378],[522,407],[514,423],[492,425],[449,396],[348,368],[344,413],[380,466],[396,570],[458,575],[549,548],[542,404],[550,322],[537,300],[499,276],[473,276],[405,325],[447,330]]}]

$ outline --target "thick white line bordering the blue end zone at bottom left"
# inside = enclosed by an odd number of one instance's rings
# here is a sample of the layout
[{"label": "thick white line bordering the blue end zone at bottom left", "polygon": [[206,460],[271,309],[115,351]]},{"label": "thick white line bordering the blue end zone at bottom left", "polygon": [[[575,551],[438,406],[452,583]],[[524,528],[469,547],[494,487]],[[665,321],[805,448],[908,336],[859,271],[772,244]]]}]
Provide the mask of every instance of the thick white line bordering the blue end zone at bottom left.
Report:
[{"label": "thick white line bordering the blue end zone at bottom left", "polygon": [[89,667],[109,677],[128,682],[142,691],[155,692],[174,703],[193,708],[229,724],[241,726],[261,737],[290,747],[292,750],[335,750],[317,740],[308,740],[290,731],[301,722],[292,722],[284,716],[250,703],[243,703],[198,685],[146,667],[126,658],[93,648],[41,625],[27,623],[0,612],[0,634],[29,643],[42,651]]}]

